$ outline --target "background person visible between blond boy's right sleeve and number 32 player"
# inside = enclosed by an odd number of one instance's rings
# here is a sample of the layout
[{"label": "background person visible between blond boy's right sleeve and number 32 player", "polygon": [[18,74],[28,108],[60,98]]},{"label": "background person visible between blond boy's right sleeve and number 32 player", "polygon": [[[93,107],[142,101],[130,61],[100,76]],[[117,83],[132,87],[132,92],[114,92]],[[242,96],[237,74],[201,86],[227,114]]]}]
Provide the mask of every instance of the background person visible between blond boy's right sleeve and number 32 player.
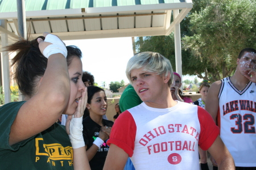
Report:
[{"label": "background person visible between blond boy's right sleeve and number 32 player", "polygon": [[[199,93],[201,94],[201,98],[194,101],[193,104],[199,105],[201,108],[205,109],[205,101],[207,99],[207,92],[210,87],[208,80],[203,80],[199,87]],[[199,155],[200,155],[200,166],[201,170],[209,170],[208,163],[207,163],[207,151],[202,150],[199,147]]]}]

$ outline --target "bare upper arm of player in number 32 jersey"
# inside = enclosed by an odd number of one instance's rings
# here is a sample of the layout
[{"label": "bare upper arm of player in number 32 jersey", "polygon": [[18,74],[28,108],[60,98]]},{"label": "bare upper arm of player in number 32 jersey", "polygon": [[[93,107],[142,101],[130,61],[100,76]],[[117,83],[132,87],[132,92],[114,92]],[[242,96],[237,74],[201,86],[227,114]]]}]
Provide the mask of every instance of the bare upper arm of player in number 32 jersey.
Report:
[{"label": "bare upper arm of player in number 32 jersey", "polygon": [[214,122],[217,124],[217,113],[219,107],[218,92],[220,92],[221,81],[214,82],[210,86],[207,93],[207,100],[205,102],[205,110],[210,113]]}]

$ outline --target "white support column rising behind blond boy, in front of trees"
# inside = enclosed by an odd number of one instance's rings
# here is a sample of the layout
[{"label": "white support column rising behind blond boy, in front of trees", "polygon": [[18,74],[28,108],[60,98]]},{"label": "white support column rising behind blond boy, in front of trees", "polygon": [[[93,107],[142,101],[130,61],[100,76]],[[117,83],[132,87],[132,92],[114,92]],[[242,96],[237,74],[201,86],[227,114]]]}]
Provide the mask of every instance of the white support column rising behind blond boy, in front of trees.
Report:
[{"label": "white support column rising behind blond boy, in front of trees", "polygon": [[[178,15],[179,15],[179,10],[174,10],[174,20],[177,18]],[[176,22],[176,24],[175,24],[175,28],[174,28],[174,44],[175,44],[176,72],[179,73],[181,78],[182,78],[180,22]],[[181,91],[183,91],[182,84],[181,84],[180,88],[181,88]]]}]

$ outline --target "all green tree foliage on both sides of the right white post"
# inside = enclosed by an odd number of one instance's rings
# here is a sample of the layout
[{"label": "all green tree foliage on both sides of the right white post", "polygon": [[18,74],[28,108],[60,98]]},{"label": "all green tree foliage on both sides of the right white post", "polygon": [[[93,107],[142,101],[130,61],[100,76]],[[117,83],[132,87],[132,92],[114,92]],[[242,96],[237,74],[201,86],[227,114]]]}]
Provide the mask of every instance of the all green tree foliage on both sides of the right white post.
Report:
[{"label": "all green tree foliage on both sides of the right white post", "polygon": [[[183,74],[204,80],[232,75],[243,48],[256,48],[255,0],[193,0],[180,23]],[[174,33],[139,37],[137,52],[158,52],[175,66]]]}]

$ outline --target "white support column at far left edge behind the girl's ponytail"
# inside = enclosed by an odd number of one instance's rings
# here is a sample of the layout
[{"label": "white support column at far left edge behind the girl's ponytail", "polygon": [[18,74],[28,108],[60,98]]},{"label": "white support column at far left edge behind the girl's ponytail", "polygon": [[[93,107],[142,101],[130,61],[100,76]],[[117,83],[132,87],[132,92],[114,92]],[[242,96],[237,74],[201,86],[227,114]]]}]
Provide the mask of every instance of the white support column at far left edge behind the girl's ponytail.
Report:
[{"label": "white support column at far left edge behind the girl's ponytail", "polygon": [[[7,30],[7,21],[0,20],[1,27]],[[8,35],[7,33],[1,32],[2,48],[8,45]],[[10,91],[10,67],[9,67],[9,53],[2,52],[2,77],[3,77],[3,92],[5,92],[5,104],[11,101],[11,91]]]}]

